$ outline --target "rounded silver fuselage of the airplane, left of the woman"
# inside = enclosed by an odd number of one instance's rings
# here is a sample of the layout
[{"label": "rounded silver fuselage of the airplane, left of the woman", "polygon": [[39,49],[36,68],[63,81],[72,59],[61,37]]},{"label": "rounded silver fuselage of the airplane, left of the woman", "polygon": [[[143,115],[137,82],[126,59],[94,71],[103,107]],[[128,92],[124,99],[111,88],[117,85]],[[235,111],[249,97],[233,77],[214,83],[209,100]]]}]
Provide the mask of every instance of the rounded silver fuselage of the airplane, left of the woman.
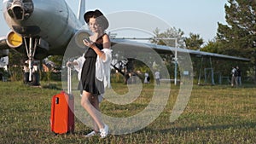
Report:
[{"label": "rounded silver fuselage of the airplane, left of the woman", "polygon": [[39,47],[48,55],[63,55],[69,40],[82,27],[65,0],[4,0],[3,15],[21,37],[39,37]]}]

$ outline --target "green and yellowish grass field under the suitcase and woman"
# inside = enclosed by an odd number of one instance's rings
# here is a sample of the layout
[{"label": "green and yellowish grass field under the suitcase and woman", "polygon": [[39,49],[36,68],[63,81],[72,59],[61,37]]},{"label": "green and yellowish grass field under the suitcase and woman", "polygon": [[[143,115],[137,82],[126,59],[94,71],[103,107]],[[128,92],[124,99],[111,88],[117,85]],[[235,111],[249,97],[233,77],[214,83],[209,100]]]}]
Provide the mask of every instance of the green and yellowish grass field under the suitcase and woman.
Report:
[{"label": "green and yellowish grass field under the suitcase and woman", "polygon": [[[76,118],[75,132],[54,135],[50,131],[50,101],[61,90],[60,82],[44,88],[30,87],[20,82],[0,82],[0,143],[256,143],[256,87],[194,86],[188,106],[173,123],[169,117],[179,87],[172,93],[164,112],[143,130],[126,135],[84,138],[90,128]],[[55,89],[53,89],[55,88]],[[58,88],[58,89],[56,89]],[[113,84],[118,93],[125,93],[124,84]],[[137,106],[147,106],[154,88],[143,85],[143,99],[126,108],[103,101],[102,112],[113,116],[129,116]],[[150,100],[149,100],[150,101]],[[127,112],[128,110],[128,112]],[[129,111],[131,110],[131,111]]]}]

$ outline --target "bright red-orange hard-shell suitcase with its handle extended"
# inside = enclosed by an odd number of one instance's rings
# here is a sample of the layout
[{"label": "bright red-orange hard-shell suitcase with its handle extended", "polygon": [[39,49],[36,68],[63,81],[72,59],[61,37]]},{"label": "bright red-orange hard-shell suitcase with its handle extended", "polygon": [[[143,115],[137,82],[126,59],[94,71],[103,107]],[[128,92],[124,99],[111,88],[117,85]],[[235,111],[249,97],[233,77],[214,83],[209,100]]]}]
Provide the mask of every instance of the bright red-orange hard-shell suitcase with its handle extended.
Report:
[{"label": "bright red-orange hard-shell suitcase with its handle extended", "polygon": [[74,99],[71,94],[71,68],[67,68],[67,93],[54,95],[51,100],[50,127],[55,134],[73,133]]}]

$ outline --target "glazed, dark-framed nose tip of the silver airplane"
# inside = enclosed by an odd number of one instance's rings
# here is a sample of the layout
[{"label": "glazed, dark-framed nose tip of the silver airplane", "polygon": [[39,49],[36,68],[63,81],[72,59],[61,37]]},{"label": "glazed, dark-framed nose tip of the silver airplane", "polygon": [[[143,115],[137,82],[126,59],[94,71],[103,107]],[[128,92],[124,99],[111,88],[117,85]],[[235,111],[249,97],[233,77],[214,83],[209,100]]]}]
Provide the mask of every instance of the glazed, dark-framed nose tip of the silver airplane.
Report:
[{"label": "glazed, dark-framed nose tip of the silver airplane", "polygon": [[33,12],[32,0],[9,0],[7,11],[10,17],[15,20],[26,20]]}]

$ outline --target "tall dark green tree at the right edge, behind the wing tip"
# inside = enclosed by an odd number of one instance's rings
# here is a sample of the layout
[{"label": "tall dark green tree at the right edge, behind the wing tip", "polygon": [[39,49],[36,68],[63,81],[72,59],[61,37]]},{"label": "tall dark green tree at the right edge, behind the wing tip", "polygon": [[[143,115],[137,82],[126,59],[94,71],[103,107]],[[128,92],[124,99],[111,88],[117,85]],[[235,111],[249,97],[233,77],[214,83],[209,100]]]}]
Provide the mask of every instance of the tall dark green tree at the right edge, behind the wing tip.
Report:
[{"label": "tall dark green tree at the right edge, behind the wing tip", "polygon": [[256,2],[229,0],[224,6],[227,25],[218,23],[220,52],[251,59],[256,83]]}]

